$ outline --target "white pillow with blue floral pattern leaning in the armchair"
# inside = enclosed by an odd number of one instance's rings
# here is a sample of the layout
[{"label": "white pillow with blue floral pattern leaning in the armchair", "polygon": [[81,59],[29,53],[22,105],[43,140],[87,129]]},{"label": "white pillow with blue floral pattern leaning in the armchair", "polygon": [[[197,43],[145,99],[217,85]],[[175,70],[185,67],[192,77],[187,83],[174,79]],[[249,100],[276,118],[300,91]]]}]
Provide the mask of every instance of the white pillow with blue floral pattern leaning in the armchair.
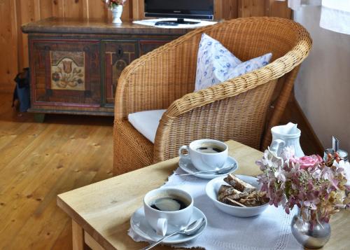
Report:
[{"label": "white pillow with blue floral pattern leaning in the armchair", "polygon": [[272,53],[241,62],[219,41],[202,34],[197,56],[195,92],[264,67]]}]

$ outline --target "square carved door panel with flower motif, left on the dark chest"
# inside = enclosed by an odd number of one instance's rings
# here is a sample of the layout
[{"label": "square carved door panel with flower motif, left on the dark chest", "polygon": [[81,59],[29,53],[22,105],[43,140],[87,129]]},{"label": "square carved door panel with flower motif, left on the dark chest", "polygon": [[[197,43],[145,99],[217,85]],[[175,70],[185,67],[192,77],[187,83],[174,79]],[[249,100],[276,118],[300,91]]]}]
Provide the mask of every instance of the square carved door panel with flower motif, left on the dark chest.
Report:
[{"label": "square carved door panel with flower motif, left on the dark chest", "polygon": [[31,40],[34,106],[99,107],[99,41]]}]

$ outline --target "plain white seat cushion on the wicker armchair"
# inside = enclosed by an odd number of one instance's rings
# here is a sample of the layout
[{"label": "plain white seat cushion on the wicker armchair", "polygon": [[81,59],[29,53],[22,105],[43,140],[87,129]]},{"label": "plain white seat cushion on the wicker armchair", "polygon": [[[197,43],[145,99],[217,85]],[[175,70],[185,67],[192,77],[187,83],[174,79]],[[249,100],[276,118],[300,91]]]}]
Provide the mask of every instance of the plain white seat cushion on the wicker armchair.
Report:
[{"label": "plain white seat cushion on the wicker armchair", "polygon": [[159,121],[165,111],[166,109],[158,109],[130,113],[129,116],[127,116],[127,120],[129,120],[137,131],[154,144],[155,133],[157,132]]}]

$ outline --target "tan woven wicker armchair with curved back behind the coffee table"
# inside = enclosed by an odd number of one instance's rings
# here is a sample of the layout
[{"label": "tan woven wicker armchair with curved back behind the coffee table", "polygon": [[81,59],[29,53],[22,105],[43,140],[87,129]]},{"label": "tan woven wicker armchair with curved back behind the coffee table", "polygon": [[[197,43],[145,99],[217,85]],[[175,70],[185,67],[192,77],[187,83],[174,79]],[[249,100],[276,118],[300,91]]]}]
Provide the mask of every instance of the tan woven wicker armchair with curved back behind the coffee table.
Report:
[{"label": "tan woven wicker armchair with curved back behind the coffee table", "polygon": [[[193,92],[202,33],[240,60],[272,52],[272,62],[249,74]],[[235,139],[265,148],[293,89],[298,65],[311,49],[309,33],[282,18],[240,18],[195,29],[134,60],[116,91],[114,174],[174,158],[181,145],[202,138]],[[155,144],[127,121],[129,113],[167,109]]]}]

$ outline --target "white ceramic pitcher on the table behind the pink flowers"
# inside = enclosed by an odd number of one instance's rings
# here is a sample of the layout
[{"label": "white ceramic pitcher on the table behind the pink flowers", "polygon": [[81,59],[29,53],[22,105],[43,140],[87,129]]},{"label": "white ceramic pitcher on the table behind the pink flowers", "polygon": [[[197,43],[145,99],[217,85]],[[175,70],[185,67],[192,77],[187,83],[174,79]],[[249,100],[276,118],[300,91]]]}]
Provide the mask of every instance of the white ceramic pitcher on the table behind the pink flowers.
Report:
[{"label": "white ceramic pitcher on the table behind the pink flowers", "polygon": [[302,157],[302,147],[300,146],[300,129],[297,128],[297,124],[288,123],[287,125],[280,125],[272,127],[272,143],[269,146],[271,151],[280,155],[283,148],[286,146],[293,146],[295,156]]}]

